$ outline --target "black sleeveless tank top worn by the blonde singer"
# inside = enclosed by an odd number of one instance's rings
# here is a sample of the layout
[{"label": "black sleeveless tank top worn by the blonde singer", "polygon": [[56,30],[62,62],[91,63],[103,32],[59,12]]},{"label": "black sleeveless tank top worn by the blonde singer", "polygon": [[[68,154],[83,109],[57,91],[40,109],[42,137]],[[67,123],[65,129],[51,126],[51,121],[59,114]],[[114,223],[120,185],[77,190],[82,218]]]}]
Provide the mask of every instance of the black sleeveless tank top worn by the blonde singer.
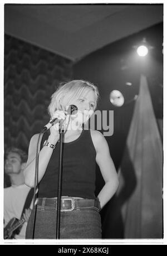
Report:
[{"label": "black sleeveless tank top worn by the blonde singer", "polygon": [[[48,138],[45,133],[42,142]],[[45,175],[38,190],[38,197],[57,197],[59,143],[53,150]],[[96,150],[90,130],[82,130],[75,141],[63,143],[62,196],[95,199]]]}]

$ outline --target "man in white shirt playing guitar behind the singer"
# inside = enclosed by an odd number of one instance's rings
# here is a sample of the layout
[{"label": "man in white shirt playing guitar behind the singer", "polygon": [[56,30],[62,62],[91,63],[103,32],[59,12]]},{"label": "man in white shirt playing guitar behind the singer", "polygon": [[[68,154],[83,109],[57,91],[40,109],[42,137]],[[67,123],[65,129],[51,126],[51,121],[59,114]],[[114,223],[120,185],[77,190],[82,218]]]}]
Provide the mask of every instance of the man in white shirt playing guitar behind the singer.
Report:
[{"label": "man in white shirt playing guitar behind the singer", "polygon": [[[31,188],[24,184],[23,170],[27,162],[27,153],[19,148],[9,148],[6,152],[4,172],[9,176],[11,186],[4,189],[4,228],[13,225],[13,218],[20,220],[24,218],[24,223],[13,233],[11,238],[24,239],[26,234],[27,220],[31,214],[30,209],[23,209],[27,195]],[[22,212],[24,213],[22,214]],[[11,221],[12,219],[12,221]],[[16,223],[16,221],[15,221]],[[8,226],[7,226],[8,227]]]}]

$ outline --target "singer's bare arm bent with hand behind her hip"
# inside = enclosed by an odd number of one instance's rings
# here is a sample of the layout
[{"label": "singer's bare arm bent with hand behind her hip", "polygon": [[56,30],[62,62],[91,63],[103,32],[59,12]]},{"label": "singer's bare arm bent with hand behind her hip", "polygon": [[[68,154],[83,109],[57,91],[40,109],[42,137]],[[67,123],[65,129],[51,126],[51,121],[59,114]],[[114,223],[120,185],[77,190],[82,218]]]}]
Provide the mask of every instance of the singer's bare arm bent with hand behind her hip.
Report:
[{"label": "singer's bare arm bent with hand behind her hip", "polygon": [[98,131],[91,131],[91,137],[96,149],[96,162],[105,181],[105,186],[97,196],[102,209],[115,194],[119,180],[105,137]]}]

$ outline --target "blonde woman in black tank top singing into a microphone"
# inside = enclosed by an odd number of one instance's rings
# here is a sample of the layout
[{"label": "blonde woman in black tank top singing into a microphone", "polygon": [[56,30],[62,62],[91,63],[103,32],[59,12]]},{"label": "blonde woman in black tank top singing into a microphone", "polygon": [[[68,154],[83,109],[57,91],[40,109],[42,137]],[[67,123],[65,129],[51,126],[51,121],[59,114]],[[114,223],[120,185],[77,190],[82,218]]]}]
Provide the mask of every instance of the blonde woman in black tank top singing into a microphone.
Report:
[{"label": "blonde woman in black tank top singing into a microphone", "polygon": [[[100,239],[99,211],[115,194],[118,178],[106,139],[98,131],[84,129],[97,105],[97,87],[84,80],[61,85],[51,97],[51,118],[65,120],[63,138],[63,174],[61,195],[61,239]],[[67,106],[76,105],[77,113],[66,115]],[[67,118],[68,117],[68,118]],[[67,120],[68,119],[68,120]],[[38,199],[36,200],[35,239],[55,239],[57,219],[57,186],[59,160],[58,123],[41,139],[38,163]],[[30,141],[26,185],[33,187],[38,134]],[[105,185],[95,197],[95,168],[100,167]],[[30,238],[31,217],[26,238]]]}]

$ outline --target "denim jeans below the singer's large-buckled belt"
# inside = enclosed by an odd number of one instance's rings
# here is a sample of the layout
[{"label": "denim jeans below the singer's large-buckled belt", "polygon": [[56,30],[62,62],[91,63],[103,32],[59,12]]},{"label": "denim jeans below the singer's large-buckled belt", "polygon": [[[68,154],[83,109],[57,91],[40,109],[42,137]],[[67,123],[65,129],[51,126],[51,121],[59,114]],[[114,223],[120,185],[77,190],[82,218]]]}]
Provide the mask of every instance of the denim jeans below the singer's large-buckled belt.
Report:
[{"label": "denim jeans below the singer's large-buckled belt", "polygon": [[[30,239],[31,218],[28,220],[26,239]],[[34,239],[56,239],[55,207],[36,207]],[[94,206],[72,211],[61,211],[60,239],[101,239],[101,218]]]}]

